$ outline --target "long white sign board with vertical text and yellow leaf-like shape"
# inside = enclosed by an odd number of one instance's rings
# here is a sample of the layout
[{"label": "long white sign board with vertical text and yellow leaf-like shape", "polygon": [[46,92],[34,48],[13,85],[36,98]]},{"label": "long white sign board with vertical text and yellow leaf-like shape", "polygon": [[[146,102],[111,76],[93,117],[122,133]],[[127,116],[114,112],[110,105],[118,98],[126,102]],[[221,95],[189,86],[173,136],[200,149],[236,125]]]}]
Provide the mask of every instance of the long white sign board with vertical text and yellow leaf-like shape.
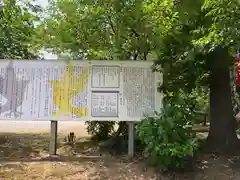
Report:
[{"label": "long white sign board with vertical text and yellow leaf-like shape", "polygon": [[0,119],[137,121],[161,108],[152,62],[0,61]]}]

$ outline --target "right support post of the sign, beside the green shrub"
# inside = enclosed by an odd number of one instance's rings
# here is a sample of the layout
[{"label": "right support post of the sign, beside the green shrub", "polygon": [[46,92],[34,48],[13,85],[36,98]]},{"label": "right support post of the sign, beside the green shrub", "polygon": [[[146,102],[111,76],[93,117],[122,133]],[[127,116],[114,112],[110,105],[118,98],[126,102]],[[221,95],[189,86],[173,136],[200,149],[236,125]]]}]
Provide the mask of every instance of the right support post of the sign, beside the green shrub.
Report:
[{"label": "right support post of the sign, beside the green shrub", "polygon": [[128,123],[128,156],[132,158],[134,156],[134,122]]}]

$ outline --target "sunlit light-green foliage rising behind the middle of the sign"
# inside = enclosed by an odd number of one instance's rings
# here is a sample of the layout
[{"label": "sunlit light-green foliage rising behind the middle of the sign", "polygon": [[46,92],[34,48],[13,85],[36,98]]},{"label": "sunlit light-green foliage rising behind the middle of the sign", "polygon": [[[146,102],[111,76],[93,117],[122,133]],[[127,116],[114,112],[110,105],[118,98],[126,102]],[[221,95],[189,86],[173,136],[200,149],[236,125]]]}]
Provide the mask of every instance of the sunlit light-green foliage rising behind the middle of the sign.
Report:
[{"label": "sunlit light-green foliage rising behind the middle of the sign", "polygon": [[172,8],[173,0],[55,0],[39,34],[45,48],[77,57],[146,60],[173,27]]}]

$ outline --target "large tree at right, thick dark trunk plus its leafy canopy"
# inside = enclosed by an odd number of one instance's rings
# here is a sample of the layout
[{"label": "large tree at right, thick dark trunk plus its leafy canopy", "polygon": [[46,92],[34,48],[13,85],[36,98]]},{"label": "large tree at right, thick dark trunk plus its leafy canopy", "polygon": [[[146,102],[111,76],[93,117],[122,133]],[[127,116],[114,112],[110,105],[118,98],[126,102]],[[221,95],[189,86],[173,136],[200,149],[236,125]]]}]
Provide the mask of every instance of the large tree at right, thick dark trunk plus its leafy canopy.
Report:
[{"label": "large tree at right, thick dark trunk plus its leafy canopy", "polygon": [[[196,2],[199,3],[194,8]],[[164,67],[168,90],[176,86],[186,91],[196,86],[209,88],[208,145],[212,150],[226,152],[239,144],[229,70],[239,45],[240,4],[237,0],[196,2],[185,0],[181,5],[175,4],[178,22],[164,37],[163,46],[158,50],[158,63]]]}]

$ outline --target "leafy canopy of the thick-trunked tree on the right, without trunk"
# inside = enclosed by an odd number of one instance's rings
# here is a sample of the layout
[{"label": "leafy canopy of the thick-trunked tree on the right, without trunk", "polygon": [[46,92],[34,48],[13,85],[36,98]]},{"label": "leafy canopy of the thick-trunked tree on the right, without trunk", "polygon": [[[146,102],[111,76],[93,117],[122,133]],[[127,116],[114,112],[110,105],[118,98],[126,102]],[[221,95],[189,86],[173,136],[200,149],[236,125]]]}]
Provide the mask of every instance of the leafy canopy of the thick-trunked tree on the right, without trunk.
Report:
[{"label": "leafy canopy of the thick-trunked tree on the right, without trunk", "polygon": [[174,1],[172,14],[176,18],[171,18],[172,28],[158,44],[158,63],[166,73],[165,88],[191,90],[207,85],[207,55],[218,46],[228,47],[234,56],[240,45],[239,3],[238,0]]}]

